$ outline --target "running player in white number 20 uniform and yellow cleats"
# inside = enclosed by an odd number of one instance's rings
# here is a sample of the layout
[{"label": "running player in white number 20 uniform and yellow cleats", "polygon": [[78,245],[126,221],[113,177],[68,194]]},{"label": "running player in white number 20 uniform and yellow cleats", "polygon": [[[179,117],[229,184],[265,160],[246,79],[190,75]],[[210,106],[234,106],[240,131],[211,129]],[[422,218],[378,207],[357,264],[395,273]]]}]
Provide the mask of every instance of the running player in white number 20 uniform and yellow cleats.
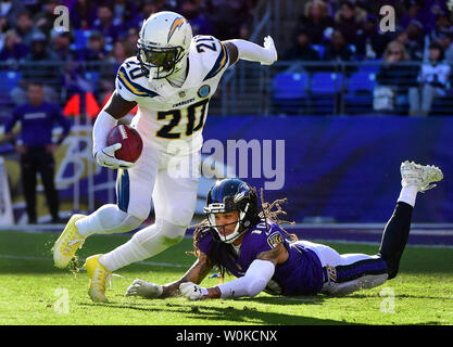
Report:
[{"label": "running player in white number 20 uniform and yellow cleats", "polygon": [[[167,11],[144,21],[137,46],[137,56],[118,68],[115,91],[98,115],[92,133],[96,162],[118,169],[117,204],[104,205],[89,216],[74,215],[52,248],[55,266],[63,269],[89,235],[138,228],[148,217],[152,200],[153,224],[114,250],[87,258],[88,294],[96,301],[108,300],[105,282],[113,271],[150,258],[183,239],[196,208],[207,105],[228,66],[239,59],[262,65],[277,61],[270,37],[263,47],[240,39],[192,38],[187,20]],[[136,105],[131,126],[143,139],[143,150],[133,164],[115,158],[121,144],[106,146],[106,137]],[[175,167],[179,175],[168,169]]]}]

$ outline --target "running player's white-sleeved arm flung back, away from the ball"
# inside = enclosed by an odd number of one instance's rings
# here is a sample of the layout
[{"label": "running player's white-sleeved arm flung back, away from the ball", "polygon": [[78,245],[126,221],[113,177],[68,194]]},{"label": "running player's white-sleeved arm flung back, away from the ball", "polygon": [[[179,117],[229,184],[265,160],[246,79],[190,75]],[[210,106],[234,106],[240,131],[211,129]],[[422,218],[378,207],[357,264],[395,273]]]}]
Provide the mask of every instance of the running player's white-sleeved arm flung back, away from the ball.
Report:
[{"label": "running player's white-sleeved arm flung back, away from the ball", "polygon": [[259,62],[262,65],[272,65],[277,59],[277,49],[270,36],[264,38],[263,47],[242,39],[223,41],[228,50],[229,66],[238,60]]}]

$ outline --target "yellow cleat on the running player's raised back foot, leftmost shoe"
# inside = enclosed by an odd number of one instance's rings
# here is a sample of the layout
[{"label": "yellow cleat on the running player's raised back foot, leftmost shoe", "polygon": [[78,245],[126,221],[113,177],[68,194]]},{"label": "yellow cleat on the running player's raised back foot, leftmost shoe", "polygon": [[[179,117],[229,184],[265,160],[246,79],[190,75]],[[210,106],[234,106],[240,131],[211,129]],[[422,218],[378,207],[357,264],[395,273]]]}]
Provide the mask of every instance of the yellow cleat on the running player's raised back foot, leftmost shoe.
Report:
[{"label": "yellow cleat on the running player's raised back foot, leftmost shoe", "polygon": [[85,237],[78,233],[75,226],[75,222],[84,217],[84,215],[72,216],[52,247],[53,262],[59,269],[64,269],[68,266],[77,249],[80,248],[85,242]]}]

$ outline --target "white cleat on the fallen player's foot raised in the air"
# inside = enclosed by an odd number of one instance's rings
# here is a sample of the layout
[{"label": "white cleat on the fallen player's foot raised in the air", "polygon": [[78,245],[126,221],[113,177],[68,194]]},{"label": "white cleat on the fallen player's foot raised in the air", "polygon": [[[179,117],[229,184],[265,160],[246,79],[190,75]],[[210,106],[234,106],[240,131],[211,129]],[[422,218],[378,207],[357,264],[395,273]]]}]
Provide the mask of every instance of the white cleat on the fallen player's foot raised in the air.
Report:
[{"label": "white cleat on the fallen player's foot raised in the air", "polygon": [[433,165],[420,165],[414,162],[405,160],[401,164],[401,185],[415,185],[418,192],[426,192],[436,187],[432,182],[439,182],[443,179],[440,168]]}]

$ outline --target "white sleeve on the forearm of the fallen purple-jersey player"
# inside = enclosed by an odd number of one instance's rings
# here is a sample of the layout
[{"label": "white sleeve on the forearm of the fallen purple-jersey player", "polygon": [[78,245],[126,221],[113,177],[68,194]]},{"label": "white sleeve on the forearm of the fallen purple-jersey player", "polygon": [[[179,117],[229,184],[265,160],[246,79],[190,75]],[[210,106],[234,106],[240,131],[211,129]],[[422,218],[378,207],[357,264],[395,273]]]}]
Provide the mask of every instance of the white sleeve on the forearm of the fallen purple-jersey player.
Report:
[{"label": "white sleeve on the forearm of the fallen purple-jersey player", "polygon": [[261,293],[270,281],[275,266],[268,260],[255,259],[242,278],[218,285],[222,298],[253,297]]}]

